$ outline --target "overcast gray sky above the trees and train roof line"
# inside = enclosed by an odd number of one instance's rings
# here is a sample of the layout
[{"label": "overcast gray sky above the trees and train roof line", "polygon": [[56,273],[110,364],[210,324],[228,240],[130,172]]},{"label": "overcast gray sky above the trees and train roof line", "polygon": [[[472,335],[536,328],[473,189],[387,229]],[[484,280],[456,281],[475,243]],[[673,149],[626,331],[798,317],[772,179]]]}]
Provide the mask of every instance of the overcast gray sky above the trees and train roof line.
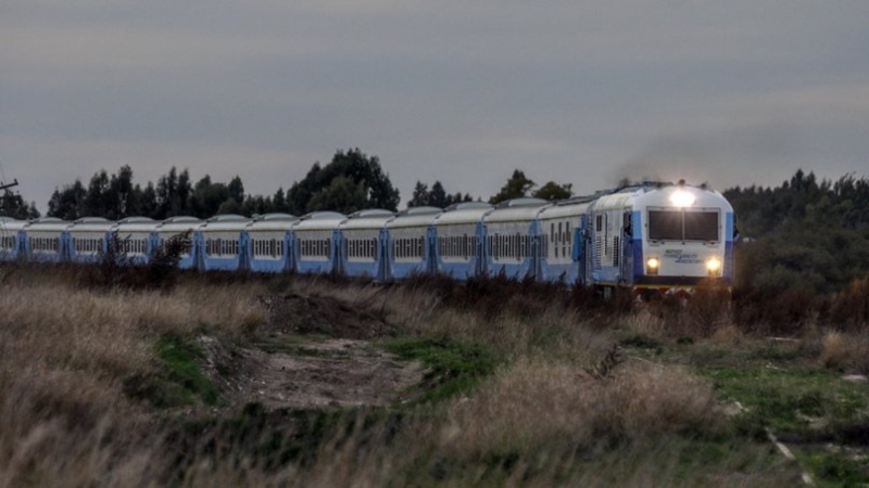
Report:
[{"label": "overcast gray sky above the trees and train roof line", "polygon": [[0,177],[42,211],[122,165],[270,195],[350,147],[403,202],[517,168],[578,194],[868,176],[869,1],[0,2]]}]

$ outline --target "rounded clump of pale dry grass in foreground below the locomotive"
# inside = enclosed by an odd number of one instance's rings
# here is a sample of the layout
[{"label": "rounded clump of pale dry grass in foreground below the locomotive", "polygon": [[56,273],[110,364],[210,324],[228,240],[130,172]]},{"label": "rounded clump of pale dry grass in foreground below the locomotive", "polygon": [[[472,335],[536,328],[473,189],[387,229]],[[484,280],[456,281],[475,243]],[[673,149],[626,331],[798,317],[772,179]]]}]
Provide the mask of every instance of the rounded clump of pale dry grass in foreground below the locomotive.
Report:
[{"label": "rounded clump of pale dry grass in foreground below the locomotive", "polygon": [[679,369],[633,362],[594,380],[563,363],[519,361],[450,408],[442,447],[465,457],[537,451],[554,440],[593,450],[711,428],[714,406],[710,386]]}]

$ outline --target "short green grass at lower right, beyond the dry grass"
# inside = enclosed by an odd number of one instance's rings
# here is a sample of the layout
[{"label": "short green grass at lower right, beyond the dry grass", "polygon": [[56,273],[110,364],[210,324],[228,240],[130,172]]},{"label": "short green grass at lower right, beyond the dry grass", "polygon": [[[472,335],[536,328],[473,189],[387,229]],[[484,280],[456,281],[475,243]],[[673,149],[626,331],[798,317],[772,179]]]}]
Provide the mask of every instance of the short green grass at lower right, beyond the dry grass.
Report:
[{"label": "short green grass at lower right, beyond the dry grass", "polygon": [[738,347],[629,337],[620,344],[630,355],[690,367],[713,382],[721,402],[744,408],[731,419],[723,444],[694,442],[695,454],[733,442],[771,446],[769,431],[789,446],[818,486],[869,483],[869,385],[822,368],[817,351],[798,343]]}]

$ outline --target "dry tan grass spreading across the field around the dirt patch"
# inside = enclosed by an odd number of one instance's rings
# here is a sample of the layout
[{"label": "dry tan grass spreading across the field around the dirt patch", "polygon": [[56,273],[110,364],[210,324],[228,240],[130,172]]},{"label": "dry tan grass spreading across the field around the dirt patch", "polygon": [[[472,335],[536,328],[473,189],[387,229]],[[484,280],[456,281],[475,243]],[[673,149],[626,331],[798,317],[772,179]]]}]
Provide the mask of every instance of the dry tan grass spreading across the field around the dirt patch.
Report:
[{"label": "dry tan grass spreading across the field around the dirt patch", "polygon": [[[451,303],[457,298],[444,292],[449,283],[383,287],[297,277],[276,290],[207,275],[184,277],[171,293],[134,293],[81,290],[75,272],[3,274],[0,488],[710,483],[705,474],[680,473],[679,464],[690,449],[684,438],[716,428],[710,386],[679,368],[633,360],[593,378],[587,369],[613,341],[569,300],[543,299],[549,288],[495,283],[513,294],[477,308]],[[483,293],[490,284],[475,286]],[[177,471],[177,446],[166,439],[189,412],[167,415],[136,403],[124,395],[124,381],[154,368],[153,344],[164,334],[206,330],[243,341],[267,320],[259,297],[269,293],[335,297],[379,313],[405,335],[482,344],[502,368],[467,396],[421,411],[349,413],[311,447],[316,453],[306,463],[266,468],[254,452],[225,440],[229,448],[221,453],[197,444],[201,451]],[[619,317],[639,333],[672,335],[667,316]],[[719,485],[763,485],[751,476],[725,476]]]}]

